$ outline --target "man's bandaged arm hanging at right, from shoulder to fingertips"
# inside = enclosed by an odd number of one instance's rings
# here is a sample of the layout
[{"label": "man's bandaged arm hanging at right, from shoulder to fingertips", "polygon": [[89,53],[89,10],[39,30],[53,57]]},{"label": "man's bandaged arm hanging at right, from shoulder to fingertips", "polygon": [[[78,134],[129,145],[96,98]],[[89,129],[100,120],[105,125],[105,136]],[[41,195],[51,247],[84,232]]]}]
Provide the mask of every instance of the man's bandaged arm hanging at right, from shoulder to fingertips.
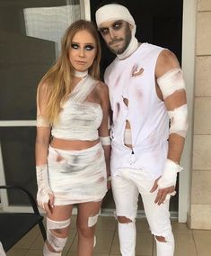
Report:
[{"label": "man's bandaged arm hanging at right, from shoulder to fingertips", "polygon": [[178,59],[170,50],[163,50],[159,55],[155,68],[155,79],[171,120],[167,161],[163,175],[156,181],[153,189],[154,191],[157,187],[159,188],[155,203],[160,205],[167,194],[174,191],[177,172],[181,169],[180,157],[188,129],[184,79]]}]

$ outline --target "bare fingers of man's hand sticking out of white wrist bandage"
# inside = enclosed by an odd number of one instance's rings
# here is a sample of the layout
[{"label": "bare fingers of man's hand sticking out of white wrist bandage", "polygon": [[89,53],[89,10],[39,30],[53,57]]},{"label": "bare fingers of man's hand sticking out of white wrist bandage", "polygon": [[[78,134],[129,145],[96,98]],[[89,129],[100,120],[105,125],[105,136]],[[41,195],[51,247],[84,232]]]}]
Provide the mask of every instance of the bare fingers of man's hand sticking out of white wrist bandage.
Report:
[{"label": "bare fingers of man's hand sticking out of white wrist bandage", "polygon": [[[159,178],[161,178],[161,177],[159,177]],[[151,193],[153,193],[157,189],[157,187],[158,187],[157,182],[158,182],[159,178],[155,179],[154,186],[150,190]],[[164,203],[166,197],[168,197],[170,195],[171,196],[175,195],[174,192],[175,192],[174,186],[158,189],[157,197],[155,198],[154,203],[158,204],[158,206],[160,206],[161,204]]]}]

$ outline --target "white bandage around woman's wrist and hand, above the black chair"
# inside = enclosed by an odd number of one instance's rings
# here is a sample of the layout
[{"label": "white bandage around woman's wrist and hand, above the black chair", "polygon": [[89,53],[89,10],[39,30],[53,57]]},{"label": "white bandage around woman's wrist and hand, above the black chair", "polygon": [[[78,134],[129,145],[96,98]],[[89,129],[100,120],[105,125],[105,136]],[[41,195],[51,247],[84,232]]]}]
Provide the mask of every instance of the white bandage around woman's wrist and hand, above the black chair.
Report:
[{"label": "white bandage around woman's wrist and hand, above the black chair", "polygon": [[44,164],[36,166],[36,175],[38,183],[37,202],[39,206],[43,206],[43,204],[48,203],[48,194],[53,195],[53,192],[48,184],[48,165]]}]

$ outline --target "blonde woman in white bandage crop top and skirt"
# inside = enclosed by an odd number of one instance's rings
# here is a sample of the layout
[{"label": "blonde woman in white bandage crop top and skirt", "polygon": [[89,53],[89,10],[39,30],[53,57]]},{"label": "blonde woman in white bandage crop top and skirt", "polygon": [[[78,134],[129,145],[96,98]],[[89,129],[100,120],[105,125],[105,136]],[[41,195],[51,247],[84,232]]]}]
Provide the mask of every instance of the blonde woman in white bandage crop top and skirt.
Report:
[{"label": "blonde woman in white bandage crop top and skirt", "polygon": [[37,201],[47,214],[44,255],[61,255],[75,204],[78,255],[92,255],[94,227],[110,180],[109,97],[98,80],[100,59],[93,24],[76,21],[66,31],[60,58],[38,87]]}]

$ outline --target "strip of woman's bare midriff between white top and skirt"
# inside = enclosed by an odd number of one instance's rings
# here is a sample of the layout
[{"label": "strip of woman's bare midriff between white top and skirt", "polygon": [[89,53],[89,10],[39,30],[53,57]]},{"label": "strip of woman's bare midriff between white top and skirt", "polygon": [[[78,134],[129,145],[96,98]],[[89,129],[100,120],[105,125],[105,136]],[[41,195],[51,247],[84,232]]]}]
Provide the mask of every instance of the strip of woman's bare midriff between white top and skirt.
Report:
[{"label": "strip of woman's bare midriff between white top and skirt", "polygon": [[50,142],[52,148],[65,151],[83,151],[88,148],[92,148],[98,144],[100,140],[95,141],[67,141],[62,139],[53,138]]}]

